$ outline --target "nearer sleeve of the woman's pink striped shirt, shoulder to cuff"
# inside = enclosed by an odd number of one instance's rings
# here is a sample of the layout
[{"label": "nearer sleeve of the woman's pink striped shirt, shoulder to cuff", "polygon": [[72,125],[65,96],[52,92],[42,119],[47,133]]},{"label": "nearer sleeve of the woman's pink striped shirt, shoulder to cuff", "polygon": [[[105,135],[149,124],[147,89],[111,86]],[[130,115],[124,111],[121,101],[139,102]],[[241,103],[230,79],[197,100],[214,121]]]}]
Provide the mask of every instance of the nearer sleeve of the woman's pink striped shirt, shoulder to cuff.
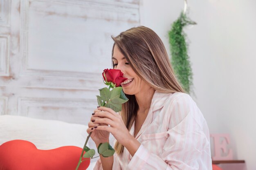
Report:
[{"label": "nearer sleeve of the woman's pink striped shirt, shoulder to cuff", "polygon": [[209,130],[195,102],[182,95],[171,102],[167,112],[168,137],[159,148],[163,152],[156,155],[142,142],[128,170],[212,170]]}]

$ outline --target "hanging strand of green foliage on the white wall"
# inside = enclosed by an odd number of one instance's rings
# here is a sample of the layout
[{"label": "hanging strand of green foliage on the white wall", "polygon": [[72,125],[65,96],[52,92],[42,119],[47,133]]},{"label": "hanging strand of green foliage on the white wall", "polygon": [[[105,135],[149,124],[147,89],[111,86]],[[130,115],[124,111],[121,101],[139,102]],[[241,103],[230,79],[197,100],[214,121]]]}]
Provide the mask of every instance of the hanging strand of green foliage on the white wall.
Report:
[{"label": "hanging strand of green foliage on the white wall", "polygon": [[171,64],[178,81],[187,93],[192,90],[193,73],[187,53],[188,44],[186,44],[186,34],[183,31],[183,27],[189,24],[195,24],[195,22],[187,18],[186,14],[181,13],[180,17],[173,22],[171,31],[168,32],[172,56]]}]

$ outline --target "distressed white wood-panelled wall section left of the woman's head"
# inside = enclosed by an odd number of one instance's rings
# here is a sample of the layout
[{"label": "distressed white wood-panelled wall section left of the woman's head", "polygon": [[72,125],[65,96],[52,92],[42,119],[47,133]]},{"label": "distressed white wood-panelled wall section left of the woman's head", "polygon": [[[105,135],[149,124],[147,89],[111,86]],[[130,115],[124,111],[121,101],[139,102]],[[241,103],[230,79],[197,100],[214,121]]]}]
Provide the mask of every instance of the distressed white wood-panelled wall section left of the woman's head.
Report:
[{"label": "distressed white wood-panelled wall section left of the woman's head", "polygon": [[0,0],[0,115],[86,124],[139,0]]}]

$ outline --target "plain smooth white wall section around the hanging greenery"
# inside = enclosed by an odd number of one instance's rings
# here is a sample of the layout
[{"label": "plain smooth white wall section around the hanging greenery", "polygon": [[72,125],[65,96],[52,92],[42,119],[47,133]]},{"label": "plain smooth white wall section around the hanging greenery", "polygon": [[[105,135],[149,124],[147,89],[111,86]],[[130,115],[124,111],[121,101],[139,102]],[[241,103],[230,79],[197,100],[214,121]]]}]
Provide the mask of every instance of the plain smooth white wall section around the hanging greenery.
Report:
[{"label": "plain smooth white wall section around the hanging greenery", "polygon": [[[183,3],[141,1],[141,24],[162,38],[168,52],[167,32]],[[246,161],[240,170],[255,170],[256,1],[188,0],[188,7],[189,17],[198,23],[185,29],[194,74],[192,97],[210,133],[229,133],[234,159]]]}]

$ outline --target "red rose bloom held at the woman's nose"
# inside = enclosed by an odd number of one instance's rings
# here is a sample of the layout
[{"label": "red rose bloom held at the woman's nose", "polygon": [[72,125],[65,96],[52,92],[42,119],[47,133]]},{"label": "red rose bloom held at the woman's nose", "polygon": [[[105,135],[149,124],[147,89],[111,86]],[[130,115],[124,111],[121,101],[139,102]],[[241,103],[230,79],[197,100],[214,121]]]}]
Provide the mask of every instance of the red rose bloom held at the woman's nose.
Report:
[{"label": "red rose bloom held at the woman's nose", "polygon": [[[104,73],[106,75],[106,78],[104,77]],[[121,72],[121,70],[117,69],[105,69],[102,73],[103,79],[106,82],[112,82],[116,85],[116,87],[119,87],[122,82],[126,81],[127,78],[123,77],[124,73]]]}]

